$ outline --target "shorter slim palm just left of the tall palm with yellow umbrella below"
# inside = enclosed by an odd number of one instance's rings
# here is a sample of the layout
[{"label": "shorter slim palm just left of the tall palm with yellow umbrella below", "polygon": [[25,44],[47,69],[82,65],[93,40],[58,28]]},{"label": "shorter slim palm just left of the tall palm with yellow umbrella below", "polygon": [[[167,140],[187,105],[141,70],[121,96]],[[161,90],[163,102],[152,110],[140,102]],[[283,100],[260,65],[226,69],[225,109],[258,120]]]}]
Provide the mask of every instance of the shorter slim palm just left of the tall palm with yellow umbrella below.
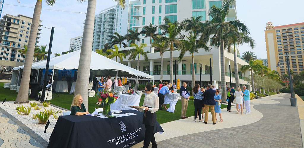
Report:
[{"label": "shorter slim palm just left of the tall palm with yellow umbrella below", "polygon": [[152,43],[152,47],[157,48],[161,55],[161,82],[163,82],[164,52],[168,50],[168,46],[165,45],[166,40],[167,38],[165,36],[158,35]]}]

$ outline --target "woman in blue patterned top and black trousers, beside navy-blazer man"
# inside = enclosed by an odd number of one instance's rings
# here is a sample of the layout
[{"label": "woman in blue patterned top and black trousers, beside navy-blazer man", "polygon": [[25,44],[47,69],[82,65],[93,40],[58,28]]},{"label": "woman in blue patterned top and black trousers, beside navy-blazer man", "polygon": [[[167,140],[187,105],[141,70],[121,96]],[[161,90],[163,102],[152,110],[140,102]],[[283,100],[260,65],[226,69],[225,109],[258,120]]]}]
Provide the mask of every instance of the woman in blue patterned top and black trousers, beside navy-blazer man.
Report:
[{"label": "woman in blue patterned top and black trousers, beside navy-blazer man", "polygon": [[203,105],[203,96],[202,91],[199,90],[199,84],[195,84],[192,89],[192,93],[194,93],[194,121],[196,121],[197,113],[199,114],[199,122],[202,121],[201,112],[202,112],[202,105]]}]

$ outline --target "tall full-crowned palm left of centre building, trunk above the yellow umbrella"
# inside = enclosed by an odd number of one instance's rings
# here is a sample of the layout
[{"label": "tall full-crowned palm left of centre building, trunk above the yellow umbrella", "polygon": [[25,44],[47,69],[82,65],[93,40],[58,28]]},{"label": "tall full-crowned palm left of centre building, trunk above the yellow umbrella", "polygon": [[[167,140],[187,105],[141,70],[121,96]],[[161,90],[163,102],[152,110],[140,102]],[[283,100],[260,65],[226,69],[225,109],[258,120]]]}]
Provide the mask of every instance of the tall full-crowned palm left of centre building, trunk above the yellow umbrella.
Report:
[{"label": "tall full-crowned palm left of centre building, trunk above the yellow umbrella", "polygon": [[173,44],[176,46],[181,45],[181,41],[176,39],[178,35],[181,35],[183,25],[179,22],[171,23],[168,18],[164,18],[164,24],[158,26],[158,28],[164,30],[163,35],[168,35],[165,40],[165,45],[170,47],[170,83],[173,84]]}]

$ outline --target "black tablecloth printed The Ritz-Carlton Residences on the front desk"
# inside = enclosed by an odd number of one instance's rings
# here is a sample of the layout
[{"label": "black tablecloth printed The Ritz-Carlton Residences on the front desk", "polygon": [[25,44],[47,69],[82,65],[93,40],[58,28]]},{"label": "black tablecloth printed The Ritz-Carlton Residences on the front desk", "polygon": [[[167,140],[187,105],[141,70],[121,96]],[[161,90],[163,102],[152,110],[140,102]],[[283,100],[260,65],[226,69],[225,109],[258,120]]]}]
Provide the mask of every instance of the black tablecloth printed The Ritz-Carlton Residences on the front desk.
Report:
[{"label": "black tablecloth printed The Ritz-Carlton Residences on the front desk", "polygon": [[[144,140],[143,113],[123,110],[136,115],[102,119],[95,116],[59,116],[50,136],[48,148],[131,147]],[[154,133],[164,132],[158,122]]]}]

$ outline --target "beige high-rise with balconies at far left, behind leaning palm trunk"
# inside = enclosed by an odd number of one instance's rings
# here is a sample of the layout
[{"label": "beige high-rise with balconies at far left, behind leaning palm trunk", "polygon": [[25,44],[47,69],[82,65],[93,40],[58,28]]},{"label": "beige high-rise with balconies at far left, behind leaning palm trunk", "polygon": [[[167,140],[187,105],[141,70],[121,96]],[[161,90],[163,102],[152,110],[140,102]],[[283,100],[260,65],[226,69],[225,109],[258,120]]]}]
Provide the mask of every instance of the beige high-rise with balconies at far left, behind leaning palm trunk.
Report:
[{"label": "beige high-rise with balconies at far left, behind leaning palm trunk", "polygon": [[[41,20],[40,20],[41,23]],[[19,50],[24,49],[24,45],[29,42],[30,28],[32,27],[32,18],[25,15],[4,15],[0,20],[0,65],[18,66],[24,62],[25,55],[21,55]],[[36,45],[40,38],[38,29]]]}]

